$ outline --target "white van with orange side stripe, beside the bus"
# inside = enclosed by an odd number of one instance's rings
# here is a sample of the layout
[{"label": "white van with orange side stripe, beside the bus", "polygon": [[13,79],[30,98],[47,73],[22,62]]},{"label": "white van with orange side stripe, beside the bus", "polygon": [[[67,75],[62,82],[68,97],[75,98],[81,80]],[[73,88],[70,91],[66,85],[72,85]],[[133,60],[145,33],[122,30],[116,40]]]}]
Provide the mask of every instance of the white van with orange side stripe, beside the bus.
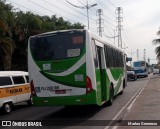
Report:
[{"label": "white van with orange side stripe, beside the bus", "polygon": [[28,72],[0,71],[0,108],[10,113],[17,103],[32,104]]}]

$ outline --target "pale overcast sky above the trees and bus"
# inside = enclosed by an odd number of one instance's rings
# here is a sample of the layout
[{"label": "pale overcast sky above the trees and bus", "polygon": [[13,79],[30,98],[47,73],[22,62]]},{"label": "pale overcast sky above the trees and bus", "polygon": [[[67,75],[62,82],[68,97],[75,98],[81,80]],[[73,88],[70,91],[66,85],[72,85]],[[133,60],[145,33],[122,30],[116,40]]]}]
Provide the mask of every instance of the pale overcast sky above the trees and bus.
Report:
[{"label": "pale overcast sky above the trees and bus", "polygon": [[[89,30],[98,33],[97,10],[102,9],[102,37],[107,42],[118,46],[117,37],[117,7],[122,8],[121,30],[122,47],[128,57],[133,61],[144,59],[144,49],[146,49],[146,61],[150,58],[150,64],[157,63],[155,48],[152,40],[159,38],[157,31],[160,28],[160,0],[6,0],[12,3],[16,11],[31,11],[35,14],[57,15],[63,17],[71,23],[80,22],[88,28],[87,1],[88,6],[97,4],[89,8]],[[68,1],[68,2],[67,2]],[[72,4],[72,5],[71,5]],[[74,7],[77,6],[77,7]],[[79,7],[84,7],[79,8]]]}]

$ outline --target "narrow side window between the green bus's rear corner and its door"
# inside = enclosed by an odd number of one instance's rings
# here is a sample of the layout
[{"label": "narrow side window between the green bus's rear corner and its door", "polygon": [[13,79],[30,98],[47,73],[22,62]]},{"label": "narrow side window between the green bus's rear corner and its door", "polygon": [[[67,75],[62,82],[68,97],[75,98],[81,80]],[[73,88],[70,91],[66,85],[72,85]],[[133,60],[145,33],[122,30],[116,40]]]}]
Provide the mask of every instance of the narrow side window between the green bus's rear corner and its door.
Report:
[{"label": "narrow side window between the green bus's rear corner and its door", "polygon": [[98,68],[97,50],[96,50],[96,44],[95,44],[95,40],[94,39],[92,39],[92,52],[93,52],[95,68]]}]

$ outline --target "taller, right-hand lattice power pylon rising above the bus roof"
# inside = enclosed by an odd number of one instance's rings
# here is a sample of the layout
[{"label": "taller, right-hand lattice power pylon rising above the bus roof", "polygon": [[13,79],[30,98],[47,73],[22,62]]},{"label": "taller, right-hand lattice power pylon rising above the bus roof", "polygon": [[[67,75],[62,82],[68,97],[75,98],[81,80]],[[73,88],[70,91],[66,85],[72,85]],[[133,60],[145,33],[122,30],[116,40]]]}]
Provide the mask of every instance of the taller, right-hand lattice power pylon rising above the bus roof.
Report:
[{"label": "taller, right-hand lattice power pylon rising above the bus roof", "polygon": [[123,26],[121,22],[123,21],[123,18],[121,17],[121,14],[123,13],[122,7],[118,7],[116,9],[116,14],[118,14],[117,22],[118,22],[118,47],[122,48],[122,36],[121,36],[121,30],[123,29]]}]

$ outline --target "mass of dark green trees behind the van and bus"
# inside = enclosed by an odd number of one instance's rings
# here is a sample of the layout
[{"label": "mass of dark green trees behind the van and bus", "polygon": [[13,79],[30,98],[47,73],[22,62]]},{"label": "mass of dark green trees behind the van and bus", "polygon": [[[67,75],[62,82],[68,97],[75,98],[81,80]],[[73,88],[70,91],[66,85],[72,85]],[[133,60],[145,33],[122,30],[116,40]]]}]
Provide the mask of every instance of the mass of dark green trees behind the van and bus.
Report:
[{"label": "mass of dark green trees behind the van and bus", "polygon": [[39,16],[32,12],[15,12],[6,0],[0,0],[0,70],[27,71],[27,44],[32,35],[65,29],[82,29],[56,15]]}]

